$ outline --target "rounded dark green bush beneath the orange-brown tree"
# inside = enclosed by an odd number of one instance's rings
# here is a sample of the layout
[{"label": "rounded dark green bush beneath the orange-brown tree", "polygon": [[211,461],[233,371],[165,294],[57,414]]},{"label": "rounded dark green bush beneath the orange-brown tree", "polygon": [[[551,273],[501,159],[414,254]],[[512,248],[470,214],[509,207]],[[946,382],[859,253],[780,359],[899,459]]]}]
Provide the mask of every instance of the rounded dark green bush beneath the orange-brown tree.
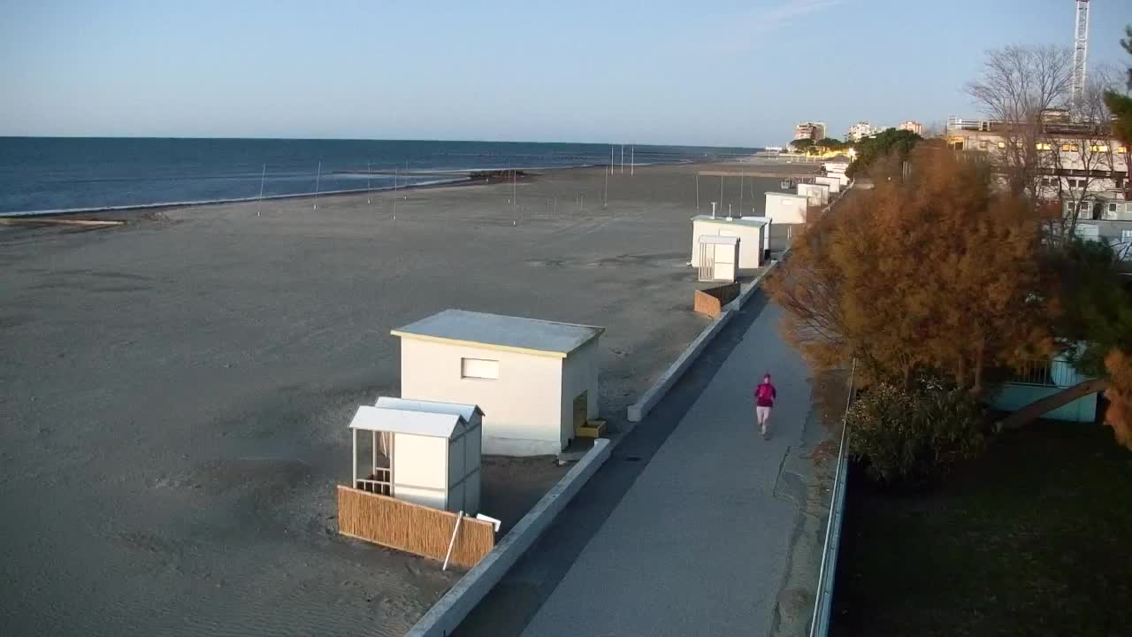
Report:
[{"label": "rounded dark green bush beneath the orange-brown tree", "polygon": [[911,391],[882,383],[849,408],[849,453],[887,484],[933,482],[986,447],[983,408],[961,388],[925,382]]}]

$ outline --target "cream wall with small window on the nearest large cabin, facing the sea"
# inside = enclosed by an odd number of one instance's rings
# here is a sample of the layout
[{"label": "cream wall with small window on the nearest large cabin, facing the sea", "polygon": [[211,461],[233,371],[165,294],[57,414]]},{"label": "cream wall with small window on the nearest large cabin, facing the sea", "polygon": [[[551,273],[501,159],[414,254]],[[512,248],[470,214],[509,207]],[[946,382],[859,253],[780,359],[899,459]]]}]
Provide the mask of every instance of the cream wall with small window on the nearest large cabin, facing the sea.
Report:
[{"label": "cream wall with small window on the nearest large cabin, facing the sea", "polygon": [[[465,357],[497,360],[499,377],[462,379]],[[401,397],[479,405],[484,453],[561,451],[561,372],[563,359],[551,356],[401,339]]]}]

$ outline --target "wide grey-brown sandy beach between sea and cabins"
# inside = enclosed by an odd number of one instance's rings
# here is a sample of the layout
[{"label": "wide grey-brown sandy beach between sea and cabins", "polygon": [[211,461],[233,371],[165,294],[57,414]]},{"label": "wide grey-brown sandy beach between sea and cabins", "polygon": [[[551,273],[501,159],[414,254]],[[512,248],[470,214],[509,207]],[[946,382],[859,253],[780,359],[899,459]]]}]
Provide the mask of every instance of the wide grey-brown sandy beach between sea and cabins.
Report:
[{"label": "wide grey-brown sandy beach between sea and cabins", "polygon": [[[0,228],[0,634],[402,635],[458,574],[333,519],[353,410],[398,392],[389,330],[448,307],[603,325],[624,426],[707,322],[697,168],[626,168],[606,205],[603,170],[574,169]],[[778,189],[744,184],[722,210]],[[710,211],[720,179],[700,189]],[[563,470],[486,461],[483,511],[513,525]]]}]

